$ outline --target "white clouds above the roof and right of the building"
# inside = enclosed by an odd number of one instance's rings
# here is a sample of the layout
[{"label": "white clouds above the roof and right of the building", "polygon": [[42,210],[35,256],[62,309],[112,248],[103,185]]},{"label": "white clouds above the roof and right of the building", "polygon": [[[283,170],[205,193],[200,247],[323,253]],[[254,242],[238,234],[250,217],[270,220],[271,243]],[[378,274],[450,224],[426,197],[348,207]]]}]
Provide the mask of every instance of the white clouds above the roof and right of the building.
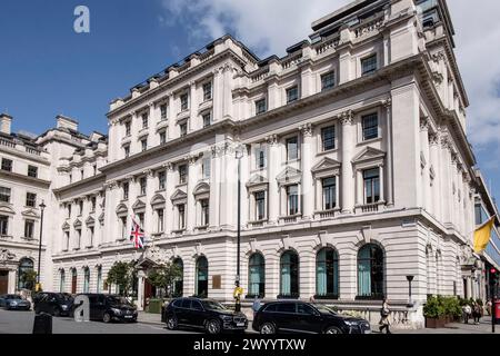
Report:
[{"label": "white clouds above the roof and right of the building", "polygon": [[[184,24],[198,44],[233,32],[259,56],[283,55],[307,38],[311,22],[350,0],[162,0],[163,23]],[[448,1],[457,57],[469,93],[469,138],[482,151],[500,152],[500,10],[498,0]],[[494,157],[493,157],[494,159]],[[498,160],[498,158],[497,158]],[[494,162],[487,162],[491,166]],[[498,164],[497,164],[498,167]]]}]

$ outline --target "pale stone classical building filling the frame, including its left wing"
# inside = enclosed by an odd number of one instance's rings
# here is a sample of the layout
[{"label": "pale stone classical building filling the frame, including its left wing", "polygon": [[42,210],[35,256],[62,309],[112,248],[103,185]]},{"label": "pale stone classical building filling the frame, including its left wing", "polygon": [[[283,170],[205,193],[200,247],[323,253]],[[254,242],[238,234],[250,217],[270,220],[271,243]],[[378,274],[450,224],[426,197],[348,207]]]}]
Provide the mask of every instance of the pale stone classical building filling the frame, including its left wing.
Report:
[{"label": "pale stone classical building filling the frame, including its left wing", "polygon": [[484,298],[500,243],[472,253],[474,211],[497,208],[467,140],[446,1],[358,0],[312,30],[283,58],[213,41],[112,101],[108,136],[61,116],[23,138],[2,116],[0,287],[37,263],[43,199],[44,289],[116,291],[109,268],[137,260],[142,308],[148,268],[171,260],[177,294],[232,301],[240,162],[248,298],[314,296],[376,320],[386,296],[399,327],[423,326],[428,295]]}]

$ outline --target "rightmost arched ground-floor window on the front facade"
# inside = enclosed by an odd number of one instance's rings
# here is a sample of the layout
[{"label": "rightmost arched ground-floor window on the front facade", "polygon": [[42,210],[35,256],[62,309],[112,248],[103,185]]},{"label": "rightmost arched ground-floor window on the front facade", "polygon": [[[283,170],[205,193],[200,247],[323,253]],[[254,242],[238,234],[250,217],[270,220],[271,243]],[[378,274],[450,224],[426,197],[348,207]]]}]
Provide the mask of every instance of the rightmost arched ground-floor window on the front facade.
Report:
[{"label": "rightmost arched ground-floor window on the front facade", "polygon": [[364,245],[358,253],[358,298],[383,298],[383,251],[373,244]]}]

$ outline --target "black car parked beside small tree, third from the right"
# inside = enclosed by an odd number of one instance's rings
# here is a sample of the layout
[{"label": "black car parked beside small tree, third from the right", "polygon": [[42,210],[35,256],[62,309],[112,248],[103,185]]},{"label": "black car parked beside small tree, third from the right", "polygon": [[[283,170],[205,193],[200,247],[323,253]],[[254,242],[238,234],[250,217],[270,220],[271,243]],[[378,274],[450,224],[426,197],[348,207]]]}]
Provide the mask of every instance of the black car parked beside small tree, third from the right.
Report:
[{"label": "black car parked beside small tree, third from the right", "polygon": [[[90,320],[137,322],[137,308],[124,297],[104,294],[81,294],[90,301]],[[78,297],[79,295],[77,295]],[[77,298],[76,297],[76,298]],[[73,303],[72,313],[79,305]]]}]

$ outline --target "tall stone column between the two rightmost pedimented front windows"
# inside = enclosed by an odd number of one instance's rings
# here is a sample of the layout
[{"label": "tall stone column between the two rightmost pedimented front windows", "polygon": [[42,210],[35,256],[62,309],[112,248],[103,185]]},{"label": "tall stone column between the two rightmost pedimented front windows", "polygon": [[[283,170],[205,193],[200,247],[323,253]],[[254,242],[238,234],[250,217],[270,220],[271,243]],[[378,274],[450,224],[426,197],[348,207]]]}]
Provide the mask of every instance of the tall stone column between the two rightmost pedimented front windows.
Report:
[{"label": "tall stone column between the two rightmost pedimented front windows", "polygon": [[354,211],[354,176],[352,171],[352,154],[356,145],[354,116],[351,110],[340,117],[342,123],[342,214]]}]

